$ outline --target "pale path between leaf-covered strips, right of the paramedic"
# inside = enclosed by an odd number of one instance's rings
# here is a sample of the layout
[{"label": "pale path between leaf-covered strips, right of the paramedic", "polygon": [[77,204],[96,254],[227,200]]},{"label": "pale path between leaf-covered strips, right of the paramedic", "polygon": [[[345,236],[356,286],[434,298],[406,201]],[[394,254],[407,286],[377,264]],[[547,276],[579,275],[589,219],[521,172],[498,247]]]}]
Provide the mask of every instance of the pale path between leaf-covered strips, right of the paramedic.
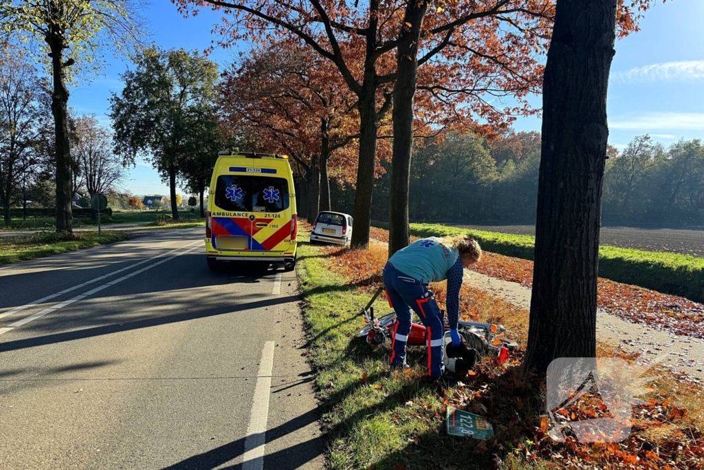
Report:
[{"label": "pale path between leaf-covered strips, right of the paramedic", "polygon": [[[467,270],[465,283],[503,297],[516,307],[530,309],[529,287]],[[630,323],[601,310],[596,314],[596,338],[628,352],[639,352],[650,361],[667,353],[663,364],[704,383],[704,340]]]}]

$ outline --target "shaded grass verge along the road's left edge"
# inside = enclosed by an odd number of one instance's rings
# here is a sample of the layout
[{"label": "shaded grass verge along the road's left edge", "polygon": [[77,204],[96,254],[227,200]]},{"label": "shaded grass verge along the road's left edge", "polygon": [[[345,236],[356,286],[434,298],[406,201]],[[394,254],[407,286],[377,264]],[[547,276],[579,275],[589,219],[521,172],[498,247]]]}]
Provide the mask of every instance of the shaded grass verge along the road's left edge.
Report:
[{"label": "shaded grass verge along the road's left edge", "polygon": [[75,252],[78,249],[98,247],[108,243],[127,240],[126,233],[77,232],[64,235],[55,232],[39,232],[18,237],[0,238],[0,266],[44,258],[53,254]]}]

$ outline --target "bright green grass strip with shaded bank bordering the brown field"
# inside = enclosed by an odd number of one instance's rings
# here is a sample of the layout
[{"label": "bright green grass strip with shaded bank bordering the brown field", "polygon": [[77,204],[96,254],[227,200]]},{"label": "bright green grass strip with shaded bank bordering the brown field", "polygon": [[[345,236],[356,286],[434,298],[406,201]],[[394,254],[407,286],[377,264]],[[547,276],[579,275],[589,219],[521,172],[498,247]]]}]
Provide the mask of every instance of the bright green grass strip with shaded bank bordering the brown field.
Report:
[{"label": "bright green grass strip with shaded bank bordering the brown field", "polygon": [[[388,228],[387,223],[375,223]],[[427,223],[410,224],[410,233],[418,237],[471,235],[488,252],[533,259],[535,238]],[[676,253],[644,252],[639,249],[600,247],[599,276],[617,283],[639,285],[665,294],[679,295],[704,302],[704,258]]]}]

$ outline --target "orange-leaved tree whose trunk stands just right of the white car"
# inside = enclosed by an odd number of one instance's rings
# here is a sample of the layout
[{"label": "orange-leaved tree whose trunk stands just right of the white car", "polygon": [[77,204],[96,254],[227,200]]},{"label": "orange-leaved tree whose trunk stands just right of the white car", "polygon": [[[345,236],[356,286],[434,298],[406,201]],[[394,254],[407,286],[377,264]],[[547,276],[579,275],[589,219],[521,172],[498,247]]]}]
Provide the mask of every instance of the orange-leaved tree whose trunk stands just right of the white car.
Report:
[{"label": "orange-leaved tree whose trunk stands just right of the white car", "polygon": [[[254,39],[263,44],[275,42],[272,25],[285,35],[297,37],[339,70],[346,88],[356,95],[359,113],[358,171],[355,195],[355,230],[352,246],[369,243],[372,190],[376,170],[377,126],[391,108],[393,75],[387,72],[392,58],[386,54],[395,44],[386,42],[396,5],[370,0],[368,6],[340,5],[338,2],[302,0],[294,3],[260,4],[251,0],[176,0],[184,12],[195,13],[209,5],[231,14],[218,27],[229,47],[233,40]],[[344,8],[342,8],[344,7]],[[276,33],[275,33],[276,34]],[[343,49],[342,43],[348,48]],[[346,51],[346,52],[345,52]],[[386,54],[386,56],[384,55]]]}]

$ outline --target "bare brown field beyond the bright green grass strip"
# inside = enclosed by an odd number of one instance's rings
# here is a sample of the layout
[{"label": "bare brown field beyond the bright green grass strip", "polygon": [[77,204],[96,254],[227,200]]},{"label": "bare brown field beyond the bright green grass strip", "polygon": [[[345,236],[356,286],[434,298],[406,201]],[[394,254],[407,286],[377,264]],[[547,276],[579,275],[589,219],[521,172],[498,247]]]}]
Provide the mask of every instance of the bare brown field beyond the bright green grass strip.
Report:
[{"label": "bare brown field beyond the bright green grass strip", "polygon": [[[534,225],[455,225],[491,232],[535,235]],[[704,257],[704,230],[673,228],[602,227],[601,245],[670,252]]]}]

